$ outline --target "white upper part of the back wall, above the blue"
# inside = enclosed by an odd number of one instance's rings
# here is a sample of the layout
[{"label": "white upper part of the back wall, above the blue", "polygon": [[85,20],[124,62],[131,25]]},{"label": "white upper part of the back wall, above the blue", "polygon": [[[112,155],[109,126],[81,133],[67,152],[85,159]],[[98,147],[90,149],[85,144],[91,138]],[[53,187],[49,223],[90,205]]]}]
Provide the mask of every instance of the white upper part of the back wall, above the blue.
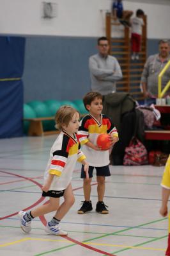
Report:
[{"label": "white upper part of the back wall, above the blue", "polygon": [[[1,35],[99,37],[105,34],[105,12],[111,10],[111,0],[51,0],[58,4],[58,15],[50,20],[42,19],[43,1],[0,0]],[[170,5],[163,2],[162,5],[129,0],[124,1],[124,8],[144,10],[148,15],[148,38],[167,38]]]}]

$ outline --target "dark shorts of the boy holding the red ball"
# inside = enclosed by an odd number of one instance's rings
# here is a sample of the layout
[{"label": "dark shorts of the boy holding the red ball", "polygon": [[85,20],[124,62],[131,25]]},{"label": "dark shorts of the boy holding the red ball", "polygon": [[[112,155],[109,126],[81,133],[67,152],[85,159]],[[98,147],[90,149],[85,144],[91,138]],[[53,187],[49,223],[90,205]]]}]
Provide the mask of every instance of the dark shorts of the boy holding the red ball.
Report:
[{"label": "dark shorts of the boy holding the red ball", "polygon": [[[108,166],[100,166],[100,167],[94,167],[89,166],[89,178],[93,177],[93,169],[97,170],[97,176],[111,176],[109,165]],[[81,178],[86,178],[86,173],[84,171],[84,166],[81,167]]]}]

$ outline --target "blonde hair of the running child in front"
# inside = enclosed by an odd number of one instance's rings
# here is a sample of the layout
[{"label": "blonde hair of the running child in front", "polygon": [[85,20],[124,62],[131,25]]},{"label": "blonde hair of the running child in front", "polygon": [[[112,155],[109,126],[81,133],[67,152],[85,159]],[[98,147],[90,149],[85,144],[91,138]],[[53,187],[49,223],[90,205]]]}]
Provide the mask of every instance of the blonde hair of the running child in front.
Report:
[{"label": "blonde hair of the running child in front", "polygon": [[55,116],[56,125],[55,125],[55,127],[58,130],[62,130],[63,124],[68,126],[69,122],[72,120],[72,117],[75,113],[79,113],[75,108],[73,108],[71,106],[67,106],[67,105],[61,106],[59,108],[59,110],[56,112],[56,116]]}]

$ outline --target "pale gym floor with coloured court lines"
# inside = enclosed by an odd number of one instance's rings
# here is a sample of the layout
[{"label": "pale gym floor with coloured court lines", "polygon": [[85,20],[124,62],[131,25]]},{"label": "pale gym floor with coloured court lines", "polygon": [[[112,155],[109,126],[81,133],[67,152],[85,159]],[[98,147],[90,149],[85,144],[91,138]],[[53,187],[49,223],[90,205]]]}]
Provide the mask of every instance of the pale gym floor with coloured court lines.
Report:
[{"label": "pale gym floor with coloured court lines", "polygon": [[0,255],[1,256],[163,256],[167,246],[167,218],[158,213],[164,167],[111,166],[104,203],[109,214],[95,212],[97,182],[93,177],[93,211],[77,214],[84,200],[81,166],[72,186],[75,204],[61,221],[68,237],[49,235],[43,228],[53,214],[36,218],[30,234],[19,226],[17,212],[45,203],[41,197],[43,172],[55,135],[1,139],[0,146]]}]

